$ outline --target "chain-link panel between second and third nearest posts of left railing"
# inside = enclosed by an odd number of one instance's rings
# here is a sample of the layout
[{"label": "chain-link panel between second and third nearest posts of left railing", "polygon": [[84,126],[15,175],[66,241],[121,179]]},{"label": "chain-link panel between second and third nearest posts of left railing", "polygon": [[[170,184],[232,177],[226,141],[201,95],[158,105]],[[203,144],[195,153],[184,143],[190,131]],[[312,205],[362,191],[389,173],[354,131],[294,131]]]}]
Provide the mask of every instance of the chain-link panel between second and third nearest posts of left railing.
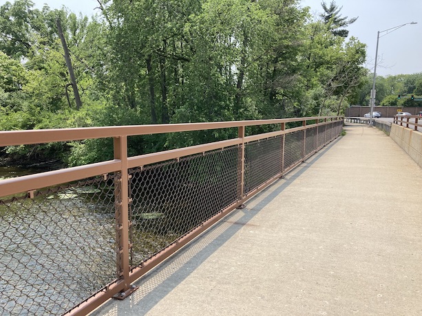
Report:
[{"label": "chain-link panel between second and third nearest posts of left railing", "polygon": [[261,139],[245,146],[244,191],[265,183],[282,172],[283,136]]}]

